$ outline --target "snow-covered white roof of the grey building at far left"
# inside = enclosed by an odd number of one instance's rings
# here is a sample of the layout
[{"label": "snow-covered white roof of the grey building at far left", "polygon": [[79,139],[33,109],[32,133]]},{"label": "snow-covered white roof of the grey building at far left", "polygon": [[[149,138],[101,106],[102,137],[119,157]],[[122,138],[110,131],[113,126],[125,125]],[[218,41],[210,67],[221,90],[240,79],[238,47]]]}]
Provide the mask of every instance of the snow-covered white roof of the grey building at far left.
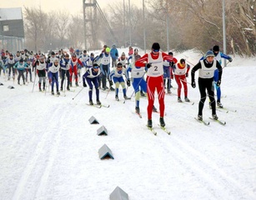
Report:
[{"label": "snow-covered white roof of the grey building at far left", "polygon": [[0,21],[23,19],[22,7],[0,8]]}]

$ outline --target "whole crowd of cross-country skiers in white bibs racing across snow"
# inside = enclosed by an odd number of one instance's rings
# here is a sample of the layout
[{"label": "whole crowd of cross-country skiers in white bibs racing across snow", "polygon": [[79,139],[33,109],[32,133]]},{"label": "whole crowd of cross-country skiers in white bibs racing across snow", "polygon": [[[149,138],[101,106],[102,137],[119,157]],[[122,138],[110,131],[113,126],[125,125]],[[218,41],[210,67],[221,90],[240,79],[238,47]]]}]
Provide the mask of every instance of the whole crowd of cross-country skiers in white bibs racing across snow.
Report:
[{"label": "whole crowd of cross-country skiers in white bibs racing across snow", "polygon": [[[199,69],[198,87],[201,94],[198,106],[198,119],[203,120],[203,103],[207,97],[210,99],[213,118],[218,119],[216,115],[216,103],[214,100],[213,82],[217,89],[218,107],[223,107],[220,103],[220,82],[222,75],[221,58],[232,58],[219,51],[218,46],[214,46],[211,51],[206,52],[191,72],[191,85],[195,87],[194,72]],[[86,50],[83,52],[73,50],[69,52],[49,52],[48,57],[42,52],[33,53],[27,49],[14,53],[1,52],[0,75],[10,80],[15,80],[18,74],[18,84],[26,82],[35,82],[38,77],[38,90],[45,91],[46,84],[51,85],[51,92],[54,95],[56,87],[57,95],[60,91],[70,90],[70,87],[79,85],[79,79],[83,78],[83,87],[88,87],[89,104],[93,105],[93,88],[96,92],[96,103],[101,104],[99,99],[99,90],[110,90],[115,92],[115,99],[119,101],[119,87],[122,87],[123,98],[128,99],[127,88],[133,86],[135,94],[135,111],[140,112],[139,99],[142,95],[148,98],[148,128],[152,128],[152,112],[156,110],[153,106],[154,92],[158,92],[160,125],[165,126],[164,117],[164,94],[171,93],[172,79],[177,82],[178,102],[189,102],[187,77],[190,66],[185,59],[173,57],[173,52],[161,52],[158,42],[152,45],[152,52],[143,56],[139,55],[138,48],[129,47],[128,56],[122,52],[119,56],[116,45],[108,47],[103,46],[102,52],[95,57],[91,52],[88,55]],[[33,72],[35,76],[33,77]],[[82,74],[83,72],[83,74]],[[25,73],[25,75],[24,75]],[[145,76],[147,75],[147,76]],[[144,77],[147,77],[145,79]],[[22,78],[22,82],[21,82]],[[60,82],[59,82],[60,79]],[[108,86],[107,86],[108,83]],[[60,85],[59,85],[60,84]],[[113,84],[114,87],[113,88]]]}]

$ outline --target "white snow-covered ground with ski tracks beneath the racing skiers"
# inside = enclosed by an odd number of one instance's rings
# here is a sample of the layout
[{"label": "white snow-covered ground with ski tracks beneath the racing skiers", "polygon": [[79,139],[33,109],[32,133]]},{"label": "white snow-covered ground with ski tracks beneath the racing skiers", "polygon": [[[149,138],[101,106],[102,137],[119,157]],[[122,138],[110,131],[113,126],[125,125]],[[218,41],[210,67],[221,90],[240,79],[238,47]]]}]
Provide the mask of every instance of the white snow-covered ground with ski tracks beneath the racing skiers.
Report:
[{"label": "white snow-covered ground with ski tracks beneath the racing skiers", "polygon": [[[174,56],[195,64],[202,55],[191,50]],[[191,103],[165,96],[171,135],[158,128],[159,114],[153,113],[157,136],[145,126],[144,98],[139,118],[134,97],[123,103],[122,92],[116,102],[114,92],[101,91],[100,100],[110,107],[89,107],[88,87],[77,97],[83,87],[53,97],[38,92],[37,85],[32,92],[33,83],[6,82],[2,74],[0,199],[105,200],[117,186],[130,200],[256,199],[255,63],[255,58],[233,57],[223,69],[222,102],[229,111],[217,114],[226,126],[194,120],[199,92],[188,85]],[[128,96],[132,93],[129,87]],[[99,124],[88,122],[92,116]],[[206,104],[203,117],[210,116]],[[97,135],[102,126],[108,136]],[[114,159],[99,159],[103,144]]]}]

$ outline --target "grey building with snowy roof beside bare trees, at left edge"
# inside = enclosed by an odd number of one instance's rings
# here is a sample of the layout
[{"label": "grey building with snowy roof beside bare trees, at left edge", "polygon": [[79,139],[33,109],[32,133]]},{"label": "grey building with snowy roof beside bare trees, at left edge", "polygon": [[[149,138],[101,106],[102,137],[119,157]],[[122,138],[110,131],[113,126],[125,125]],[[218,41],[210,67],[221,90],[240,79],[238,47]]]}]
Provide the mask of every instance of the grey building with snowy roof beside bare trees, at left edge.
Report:
[{"label": "grey building with snowy roof beside bare trees, at left edge", "polygon": [[24,48],[24,40],[22,8],[0,8],[1,49],[17,52]]}]

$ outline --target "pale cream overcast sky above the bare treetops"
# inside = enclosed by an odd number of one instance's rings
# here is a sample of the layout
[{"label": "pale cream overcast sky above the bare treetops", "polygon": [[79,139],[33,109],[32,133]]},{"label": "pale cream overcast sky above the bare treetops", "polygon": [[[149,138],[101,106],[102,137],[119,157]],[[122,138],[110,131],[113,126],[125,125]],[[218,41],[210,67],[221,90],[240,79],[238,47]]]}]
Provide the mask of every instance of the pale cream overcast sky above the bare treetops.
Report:
[{"label": "pale cream overcast sky above the bare treetops", "polygon": [[[124,0],[128,3],[128,0]],[[53,3],[54,2],[54,3]],[[98,0],[99,6],[103,9],[108,4],[122,2],[123,0]],[[131,5],[142,6],[143,0],[130,0]],[[69,13],[78,13],[83,11],[83,0],[0,0],[0,7],[42,7],[43,11],[68,10]]]}]

